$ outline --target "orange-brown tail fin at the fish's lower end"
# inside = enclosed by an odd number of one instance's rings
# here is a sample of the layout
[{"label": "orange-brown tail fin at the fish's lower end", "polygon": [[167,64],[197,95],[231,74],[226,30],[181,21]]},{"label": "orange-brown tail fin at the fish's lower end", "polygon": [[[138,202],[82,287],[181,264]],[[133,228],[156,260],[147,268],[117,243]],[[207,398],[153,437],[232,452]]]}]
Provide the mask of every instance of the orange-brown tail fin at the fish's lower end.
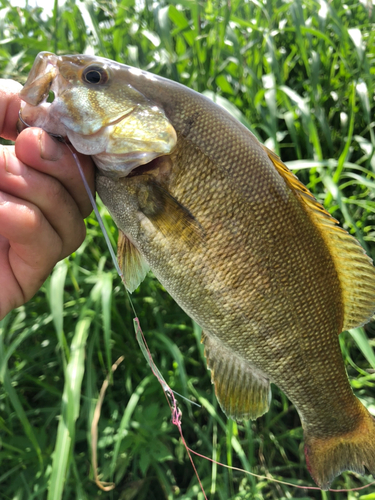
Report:
[{"label": "orange-brown tail fin at the fish's lower end", "polygon": [[328,490],[333,479],[346,470],[365,474],[366,467],[375,477],[375,419],[367,410],[363,413],[362,422],[352,432],[329,438],[305,433],[307,468],[322,490]]}]

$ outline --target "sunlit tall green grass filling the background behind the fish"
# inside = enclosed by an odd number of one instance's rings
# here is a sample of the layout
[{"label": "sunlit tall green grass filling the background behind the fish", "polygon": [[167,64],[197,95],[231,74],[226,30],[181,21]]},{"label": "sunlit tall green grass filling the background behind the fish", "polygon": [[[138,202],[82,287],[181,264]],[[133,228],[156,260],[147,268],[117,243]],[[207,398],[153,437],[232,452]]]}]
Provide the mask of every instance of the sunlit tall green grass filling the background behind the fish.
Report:
[{"label": "sunlit tall green grass filling the background behind the fish", "polygon": [[[52,2],[51,2],[52,4]],[[0,74],[24,82],[39,51],[95,53],[177,80],[229,109],[273,148],[375,257],[375,8],[348,0],[55,0],[51,11],[0,0]],[[56,207],[58,209],[58,207]],[[101,209],[115,244],[117,230]],[[155,361],[181,401],[188,444],[256,479],[195,463],[210,500],[374,500],[313,484],[297,413],[273,387],[256,422],[227,420],[214,396],[200,330],[149,276],[133,300]],[[341,335],[356,394],[375,414],[374,330]],[[98,489],[90,427],[99,421]],[[132,314],[98,223],[40,293],[0,323],[2,500],[202,499],[157,380],[134,337]],[[371,478],[342,474],[335,488]]]}]

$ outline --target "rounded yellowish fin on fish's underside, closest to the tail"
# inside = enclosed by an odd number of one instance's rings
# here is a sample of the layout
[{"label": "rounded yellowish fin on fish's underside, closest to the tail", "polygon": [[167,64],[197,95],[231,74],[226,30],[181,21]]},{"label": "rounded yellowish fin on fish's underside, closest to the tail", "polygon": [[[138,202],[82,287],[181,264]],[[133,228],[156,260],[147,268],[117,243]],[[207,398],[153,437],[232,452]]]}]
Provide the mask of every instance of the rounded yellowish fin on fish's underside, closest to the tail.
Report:
[{"label": "rounded yellowish fin on fish's underside, closest to the tail", "polygon": [[212,335],[202,333],[204,354],[223,412],[234,420],[255,420],[269,409],[270,383]]}]

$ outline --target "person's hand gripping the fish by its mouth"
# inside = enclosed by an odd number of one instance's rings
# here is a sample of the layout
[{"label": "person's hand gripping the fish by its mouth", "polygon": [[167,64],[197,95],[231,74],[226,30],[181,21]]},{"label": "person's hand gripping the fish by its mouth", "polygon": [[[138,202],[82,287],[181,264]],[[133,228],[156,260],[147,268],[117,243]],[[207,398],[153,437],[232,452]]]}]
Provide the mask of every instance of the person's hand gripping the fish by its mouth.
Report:
[{"label": "person's hand gripping the fish by its mouth", "polygon": [[[85,238],[91,212],[68,148],[38,128],[17,137],[21,85],[0,79],[0,319],[33,297],[53,266]],[[79,155],[94,192],[94,166]]]}]

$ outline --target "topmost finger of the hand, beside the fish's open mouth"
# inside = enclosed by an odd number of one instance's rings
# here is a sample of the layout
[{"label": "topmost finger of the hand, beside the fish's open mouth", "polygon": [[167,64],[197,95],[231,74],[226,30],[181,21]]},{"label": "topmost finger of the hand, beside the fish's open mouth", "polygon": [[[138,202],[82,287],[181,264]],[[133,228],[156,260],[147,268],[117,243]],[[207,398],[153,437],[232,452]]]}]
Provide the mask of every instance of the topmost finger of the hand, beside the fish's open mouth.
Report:
[{"label": "topmost finger of the hand, beside the fish's open mouth", "polygon": [[17,137],[21,89],[20,83],[0,78],[0,136],[11,141],[15,141]]}]

